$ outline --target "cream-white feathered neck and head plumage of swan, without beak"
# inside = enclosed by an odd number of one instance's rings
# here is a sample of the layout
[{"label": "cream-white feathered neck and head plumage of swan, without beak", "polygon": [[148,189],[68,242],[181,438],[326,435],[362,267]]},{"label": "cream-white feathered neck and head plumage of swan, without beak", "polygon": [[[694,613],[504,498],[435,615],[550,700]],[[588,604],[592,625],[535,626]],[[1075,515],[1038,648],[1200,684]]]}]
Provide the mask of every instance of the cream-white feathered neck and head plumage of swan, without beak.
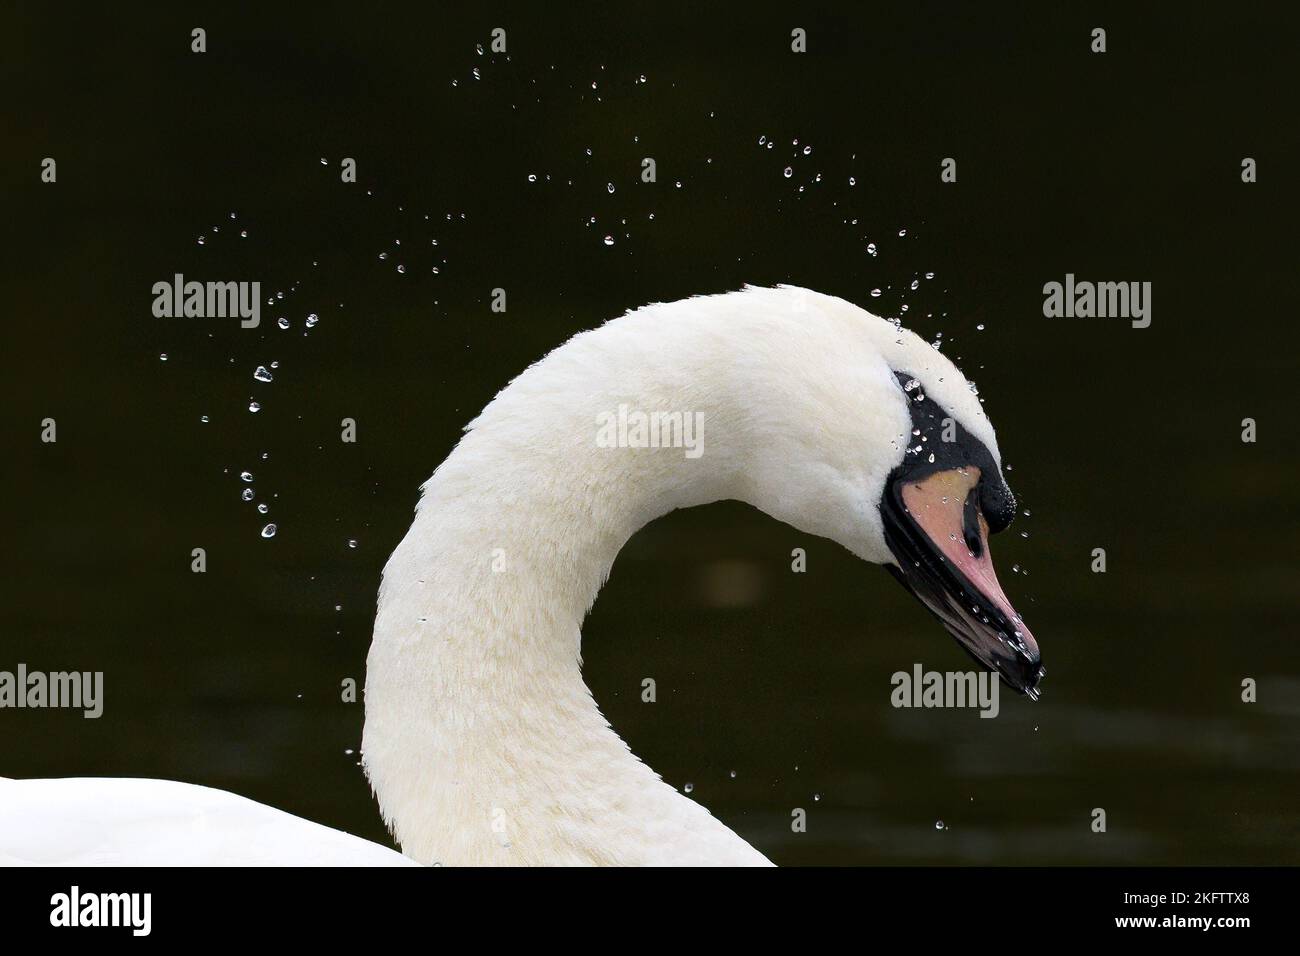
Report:
[{"label": "cream-white feathered neck and head plumage of swan, without beak", "polygon": [[[403,852],[766,862],[610,728],[582,683],[581,622],[638,528],[723,498],[892,561],[878,506],[910,437],[896,371],[997,455],[945,356],[794,287],[636,310],[503,389],[425,484],[384,574],[363,753]],[[619,405],[703,414],[703,454],[601,447],[598,415]]]}]

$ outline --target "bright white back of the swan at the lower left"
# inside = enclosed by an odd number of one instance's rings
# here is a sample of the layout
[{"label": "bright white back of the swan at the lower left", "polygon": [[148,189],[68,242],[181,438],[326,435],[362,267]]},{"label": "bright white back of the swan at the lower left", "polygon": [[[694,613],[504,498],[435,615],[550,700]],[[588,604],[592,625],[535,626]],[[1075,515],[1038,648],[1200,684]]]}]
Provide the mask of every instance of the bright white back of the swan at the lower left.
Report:
[{"label": "bright white back of the swan at the lower left", "polygon": [[5,866],[415,866],[234,793],[134,778],[0,779]]}]

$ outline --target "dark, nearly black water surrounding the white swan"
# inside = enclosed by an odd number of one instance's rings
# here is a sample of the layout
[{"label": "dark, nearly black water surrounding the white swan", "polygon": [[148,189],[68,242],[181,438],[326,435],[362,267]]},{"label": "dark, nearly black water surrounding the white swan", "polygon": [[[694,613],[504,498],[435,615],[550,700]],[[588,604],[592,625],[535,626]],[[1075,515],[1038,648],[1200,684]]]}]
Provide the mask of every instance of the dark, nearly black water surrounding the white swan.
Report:
[{"label": "dark, nearly black water surrounding the white swan", "polygon": [[[781,864],[1300,861],[1295,23],[913,10],[6,9],[0,669],[103,670],[107,700],[0,711],[0,774],[176,778],[384,839],[337,688],[464,423],[649,300],[796,282],[898,315],[935,272],[904,317],[978,381],[1031,511],[993,551],[1043,701],[892,709],[893,671],[965,656],[880,568],[736,503],[620,555],[597,700]],[[474,51],[494,26],[508,61]],[[176,272],[286,298],[256,332],[153,319]],[[1066,272],[1153,282],[1152,326],[1044,319]]]}]

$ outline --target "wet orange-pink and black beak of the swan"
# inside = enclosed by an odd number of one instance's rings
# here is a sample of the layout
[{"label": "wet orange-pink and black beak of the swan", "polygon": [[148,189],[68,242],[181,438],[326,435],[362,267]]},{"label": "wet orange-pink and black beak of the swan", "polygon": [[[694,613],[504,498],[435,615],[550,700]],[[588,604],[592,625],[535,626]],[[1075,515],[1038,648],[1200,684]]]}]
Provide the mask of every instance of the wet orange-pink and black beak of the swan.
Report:
[{"label": "wet orange-pink and black beak of the swan", "polygon": [[1043,658],[997,581],[979,480],[975,466],[893,479],[880,506],[889,570],[976,661],[1037,700]]}]

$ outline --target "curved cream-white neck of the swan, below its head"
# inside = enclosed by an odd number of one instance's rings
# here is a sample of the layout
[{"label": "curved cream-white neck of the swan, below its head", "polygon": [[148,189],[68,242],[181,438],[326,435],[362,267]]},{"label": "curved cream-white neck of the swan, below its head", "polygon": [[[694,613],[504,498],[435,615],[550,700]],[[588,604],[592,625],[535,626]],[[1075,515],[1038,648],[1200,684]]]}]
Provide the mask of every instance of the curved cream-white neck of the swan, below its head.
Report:
[{"label": "curved cream-white neck of the swan, below its head", "polygon": [[582,618],[624,542],[675,507],[742,497],[748,437],[710,429],[736,416],[692,385],[707,375],[689,349],[629,376],[572,345],[425,484],[380,592],[367,773],[421,862],[764,862],[629,752],[580,670]]}]

